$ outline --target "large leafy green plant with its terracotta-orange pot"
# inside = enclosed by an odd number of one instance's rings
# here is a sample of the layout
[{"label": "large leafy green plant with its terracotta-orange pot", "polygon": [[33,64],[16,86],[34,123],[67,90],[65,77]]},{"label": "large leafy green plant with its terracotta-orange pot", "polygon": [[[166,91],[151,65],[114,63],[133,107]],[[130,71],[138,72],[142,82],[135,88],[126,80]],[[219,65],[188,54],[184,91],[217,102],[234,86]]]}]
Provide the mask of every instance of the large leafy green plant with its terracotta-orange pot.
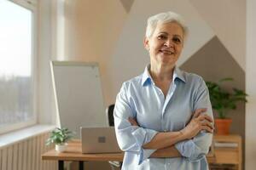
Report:
[{"label": "large leafy green plant with its terracotta-orange pot", "polygon": [[214,119],[217,134],[230,133],[232,119],[226,117],[227,111],[236,110],[236,104],[239,101],[247,102],[247,94],[243,90],[233,88],[232,92],[229,92],[221,87],[221,84],[227,81],[233,81],[233,79],[224,78],[218,82],[206,82],[212,109],[218,113],[218,118]]}]

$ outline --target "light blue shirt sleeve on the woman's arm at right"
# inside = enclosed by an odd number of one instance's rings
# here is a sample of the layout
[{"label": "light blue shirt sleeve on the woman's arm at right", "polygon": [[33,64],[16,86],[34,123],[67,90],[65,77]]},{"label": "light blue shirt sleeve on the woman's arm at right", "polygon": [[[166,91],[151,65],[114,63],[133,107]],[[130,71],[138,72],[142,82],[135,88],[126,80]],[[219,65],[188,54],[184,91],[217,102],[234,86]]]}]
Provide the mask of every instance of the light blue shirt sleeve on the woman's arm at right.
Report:
[{"label": "light blue shirt sleeve on the woman's arm at right", "polygon": [[[200,86],[197,88],[197,93],[194,98],[194,111],[200,108],[207,108],[205,114],[212,115],[212,105],[209,98],[209,92],[206,83],[200,79]],[[183,140],[175,144],[175,147],[180,154],[189,159],[189,161],[199,161],[207,155],[212,144],[212,133],[201,131],[195,138]]]}]

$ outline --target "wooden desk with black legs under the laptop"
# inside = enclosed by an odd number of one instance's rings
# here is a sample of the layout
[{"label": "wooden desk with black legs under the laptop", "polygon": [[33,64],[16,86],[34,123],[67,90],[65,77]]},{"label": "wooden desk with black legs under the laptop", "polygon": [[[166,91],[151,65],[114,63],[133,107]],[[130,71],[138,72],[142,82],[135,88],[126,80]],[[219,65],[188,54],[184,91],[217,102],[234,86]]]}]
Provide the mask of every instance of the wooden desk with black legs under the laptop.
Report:
[{"label": "wooden desk with black legs under the laptop", "polygon": [[[74,140],[67,146],[67,151],[58,153],[54,149],[42,155],[43,160],[58,161],[59,170],[64,169],[64,161],[79,161],[79,170],[84,170],[84,161],[123,161],[124,153],[82,154],[81,142]],[[215,156],[207,156],[208,162],[215,162]]]}]

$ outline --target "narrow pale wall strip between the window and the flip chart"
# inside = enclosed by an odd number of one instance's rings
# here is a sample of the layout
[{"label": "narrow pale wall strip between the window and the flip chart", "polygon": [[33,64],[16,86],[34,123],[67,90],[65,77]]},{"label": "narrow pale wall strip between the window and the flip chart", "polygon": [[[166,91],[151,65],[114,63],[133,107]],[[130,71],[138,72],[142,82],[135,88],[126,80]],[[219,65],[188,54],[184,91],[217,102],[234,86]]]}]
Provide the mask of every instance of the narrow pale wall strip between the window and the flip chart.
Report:
[{"label": "narrow pale wall strip between the window and the flip chart", "polygon": [[38,122],[55,123],[49,60],[56,59],[55,8],[58,0],[38,1]]}]

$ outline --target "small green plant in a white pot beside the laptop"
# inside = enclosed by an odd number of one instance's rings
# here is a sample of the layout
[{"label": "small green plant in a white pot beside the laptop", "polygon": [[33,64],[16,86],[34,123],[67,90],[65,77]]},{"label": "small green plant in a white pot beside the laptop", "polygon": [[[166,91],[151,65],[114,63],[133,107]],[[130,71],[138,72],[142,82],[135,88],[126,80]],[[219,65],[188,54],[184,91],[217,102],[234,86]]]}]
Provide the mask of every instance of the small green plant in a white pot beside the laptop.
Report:
[{"label": "small green plant in a white pot beside the laptop", "polygon": [[67,149],[67,141],[73,139],[73,132],[67,127],[56,127],[49,134],[49,139],[46,140],[46,145],[55,144],[55,150],[64,152]]}]

